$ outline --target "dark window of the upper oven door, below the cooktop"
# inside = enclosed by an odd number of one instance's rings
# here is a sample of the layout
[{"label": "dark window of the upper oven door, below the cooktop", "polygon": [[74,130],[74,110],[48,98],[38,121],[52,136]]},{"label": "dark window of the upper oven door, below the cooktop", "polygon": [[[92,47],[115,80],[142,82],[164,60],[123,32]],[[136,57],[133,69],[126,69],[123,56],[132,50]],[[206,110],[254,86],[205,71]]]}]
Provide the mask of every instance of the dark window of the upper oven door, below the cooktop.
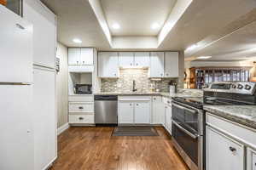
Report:
[{"label": "dark window of the upper oven door, below the cooktop", "polygon": [[172,119],[175,122],[180,122],[184,127],[188,128],[193,133],[198,132],[198,112],[182,105],[172,105]]}]

